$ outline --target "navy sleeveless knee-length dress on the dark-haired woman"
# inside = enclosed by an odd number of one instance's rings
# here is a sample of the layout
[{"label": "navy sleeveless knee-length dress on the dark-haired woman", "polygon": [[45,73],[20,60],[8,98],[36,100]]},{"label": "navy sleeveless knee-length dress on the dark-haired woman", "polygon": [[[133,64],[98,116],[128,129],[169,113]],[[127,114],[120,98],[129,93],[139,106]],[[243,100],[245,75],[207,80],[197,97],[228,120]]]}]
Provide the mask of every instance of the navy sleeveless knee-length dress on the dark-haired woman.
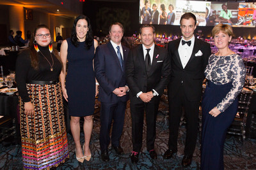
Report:
[{"label": "navy sleeveless knee-length dress on the dark-haired woman", "polygon": [[68,113],[72,117],[93,115],[95,104],[95,75],[93,71],[94,44],[87,50],[84,42],[68,43],[66,89]]}]

